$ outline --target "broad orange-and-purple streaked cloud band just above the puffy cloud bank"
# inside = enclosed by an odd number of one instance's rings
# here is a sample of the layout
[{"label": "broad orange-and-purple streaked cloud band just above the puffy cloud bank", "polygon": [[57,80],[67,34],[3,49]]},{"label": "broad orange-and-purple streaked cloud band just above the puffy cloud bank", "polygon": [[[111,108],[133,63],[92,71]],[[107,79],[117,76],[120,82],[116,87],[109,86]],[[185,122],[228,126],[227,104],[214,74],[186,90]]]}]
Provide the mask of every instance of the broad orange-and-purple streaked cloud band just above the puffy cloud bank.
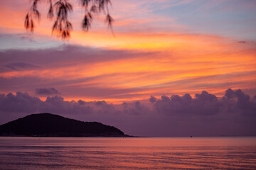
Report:
[{"label": "broad orange-and-purple streaked cloud band just above the puffy cloud bank", "polygon": [[[1,92],[33,94],[31,89],[54,86],[70,100],[122,103],[162,94],[196,94],[201,89],[217,96],[230,87],[245,89],[250,94],[255,91],[256,50],[252,42],[240,44],[203,35],[176,36],[177,44],[167,51],[107,50],[78,45],[4,50],[0,52]],[[203,49],[201,41],[207,42]],[[11,63],[19,67],[6,68]],[[26,67],[21,69],[20,65]]]}]

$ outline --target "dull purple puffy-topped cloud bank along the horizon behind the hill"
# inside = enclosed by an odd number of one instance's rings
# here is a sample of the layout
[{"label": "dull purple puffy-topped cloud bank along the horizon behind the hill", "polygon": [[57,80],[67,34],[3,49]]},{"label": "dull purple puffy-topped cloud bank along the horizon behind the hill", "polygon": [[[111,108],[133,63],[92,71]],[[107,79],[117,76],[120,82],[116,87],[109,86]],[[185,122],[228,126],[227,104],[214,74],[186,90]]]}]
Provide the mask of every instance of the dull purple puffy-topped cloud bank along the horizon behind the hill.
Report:
[{"label": "dull purple puffy-topped cloud bank along the horizon behind the hill", "polygon": [[61,96],[46,101],[17,92],[0,95],[1,123],[31,113],[56,113],[85,121],[100,121],[131,135],[256,135],[256,96],[228,89],[217,98],[207,91],[183,96],[151,96],[122,104],[105,101],[65,101]]}]

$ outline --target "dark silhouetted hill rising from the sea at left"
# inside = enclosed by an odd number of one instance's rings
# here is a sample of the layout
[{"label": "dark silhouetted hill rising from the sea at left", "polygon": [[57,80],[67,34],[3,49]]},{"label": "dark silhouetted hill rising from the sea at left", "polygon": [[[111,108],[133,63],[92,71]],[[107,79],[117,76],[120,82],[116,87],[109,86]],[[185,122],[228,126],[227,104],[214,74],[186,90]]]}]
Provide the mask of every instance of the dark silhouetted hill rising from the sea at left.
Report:
[{"label": "dark silhouetted hill rising from the sea at left", "polygon": [[124,137],[124,132],[97,122],[82,122],[60,115],[28,115],[0,126],[2,136]]}]

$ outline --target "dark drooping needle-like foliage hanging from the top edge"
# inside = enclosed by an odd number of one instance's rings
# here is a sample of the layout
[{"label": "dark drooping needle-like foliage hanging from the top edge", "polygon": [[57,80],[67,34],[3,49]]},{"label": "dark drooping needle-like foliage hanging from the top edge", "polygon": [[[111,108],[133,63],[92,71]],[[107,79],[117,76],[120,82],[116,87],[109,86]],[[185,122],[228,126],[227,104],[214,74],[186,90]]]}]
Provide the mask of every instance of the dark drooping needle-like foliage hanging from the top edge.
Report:
[{"label": "dark drooping needle-like foliage hanging from the top edge", "polygon": [[[33,32],[35,22],[41,18],[41,13],[38,11],[38,4],[46,1],[50,6],[47,17],[54,19],[52,33],[60,38],[69,38],[70,31],[73,26],[68,20],[69,14],[73,11],[72,4],[68,0],[33,0],[30,10],[26,14],[24,26],[26,30]],[[88,31],[91,28],[92,20],[95,15],[105,13],[106,23],[112,29],[113,18],[110,16],[109,6],[110,0],[73,0],[78,1],[84,9],[84,17],[82,20],[82,30]]]}]

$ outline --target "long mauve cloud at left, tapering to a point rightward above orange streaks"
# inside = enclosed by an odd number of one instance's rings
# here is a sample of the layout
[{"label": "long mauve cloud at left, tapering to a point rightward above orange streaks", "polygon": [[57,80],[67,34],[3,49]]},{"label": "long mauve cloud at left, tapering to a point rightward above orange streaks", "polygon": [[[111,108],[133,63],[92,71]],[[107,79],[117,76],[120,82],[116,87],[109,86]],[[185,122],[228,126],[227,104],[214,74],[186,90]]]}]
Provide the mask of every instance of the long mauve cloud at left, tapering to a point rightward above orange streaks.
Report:
[{"label": "long mauve cloud at left, tapering to a point rightward above orange streaks", "polygon": [[68,67],[74,64],[92,64],[95,62],[107,62],[150,54],[154,53],[106,50],[103,48],[95,49],[80,45],[61,45],[59,47],[41,50],[1,50],[0,59],[2,64],[21,69],[26,67],[36,68],[38,66],[44,66],[43,68],[56,66]]}]

